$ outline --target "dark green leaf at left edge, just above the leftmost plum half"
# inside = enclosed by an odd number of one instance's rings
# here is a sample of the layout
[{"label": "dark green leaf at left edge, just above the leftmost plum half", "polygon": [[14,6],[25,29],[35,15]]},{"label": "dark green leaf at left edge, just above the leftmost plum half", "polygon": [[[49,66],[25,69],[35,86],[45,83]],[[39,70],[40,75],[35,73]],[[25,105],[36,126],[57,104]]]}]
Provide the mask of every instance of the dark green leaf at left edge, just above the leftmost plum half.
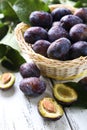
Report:
[{"label": "dark green leaf at left edge, just above the leftmost plum half", "polygon": [[17,50],[4,44],[0,44],[0,58],[4,67],[15,71],[19,70],[20,65],[26,62]]}]

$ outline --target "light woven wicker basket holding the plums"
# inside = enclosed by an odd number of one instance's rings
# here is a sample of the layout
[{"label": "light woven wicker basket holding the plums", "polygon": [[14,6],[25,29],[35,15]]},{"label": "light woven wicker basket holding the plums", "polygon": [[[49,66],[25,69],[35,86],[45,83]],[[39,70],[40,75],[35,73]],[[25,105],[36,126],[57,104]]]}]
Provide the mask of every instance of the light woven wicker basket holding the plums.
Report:
[{"label": "light woven wicker basket holding the plums", "polygon": [[[50,9],[58,6],[52,5]],[[75,8],[72,8],[72,12],[74,10]],[[59,82],[78,82],[87,76],[87,56],[69,61],[59,61],[37,54],[32,50],[31,45],[24,40],[23,33],[27,28],[29,28],[29,25],[19,23],[15,28],[15,35],[21,50],[36,63],[43,76],[56,79]]]}]

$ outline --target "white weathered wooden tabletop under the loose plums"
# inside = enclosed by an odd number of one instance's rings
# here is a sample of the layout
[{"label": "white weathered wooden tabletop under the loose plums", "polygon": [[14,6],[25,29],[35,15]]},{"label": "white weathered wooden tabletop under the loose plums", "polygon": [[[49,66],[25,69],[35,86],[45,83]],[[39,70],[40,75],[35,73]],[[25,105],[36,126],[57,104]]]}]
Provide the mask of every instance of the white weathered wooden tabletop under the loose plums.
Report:
[{"label": "white weathered wooden tabletop under the loose plums", "polygon": [[[0,66],[0,73],[8,70]],[[43,119],[37,109],[38,101],[44,96],[51,96],[52,83],[47,83],[46,91],[35,98],[26,97],[19,89],[22,79],[15,73],[14,86],[6,91],[0,90],[0,130],[87,130],[87,109],[65,108],[65,114],[60,120],[47,121]]]}]

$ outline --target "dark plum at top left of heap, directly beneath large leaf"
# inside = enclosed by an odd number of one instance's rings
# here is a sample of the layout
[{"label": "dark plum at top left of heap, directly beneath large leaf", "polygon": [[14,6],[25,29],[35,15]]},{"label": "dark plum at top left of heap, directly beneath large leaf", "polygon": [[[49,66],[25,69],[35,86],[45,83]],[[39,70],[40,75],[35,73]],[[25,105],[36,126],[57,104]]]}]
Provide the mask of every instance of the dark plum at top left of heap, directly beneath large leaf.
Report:
[{"label": "dark plum at top left of heap, directly beneath large leaf", "polygon": [[33,11],[30,14],[29,20],[32,26],[40,26],[43,28],[50,28],[52,25],[52,15],[44,11]]}]

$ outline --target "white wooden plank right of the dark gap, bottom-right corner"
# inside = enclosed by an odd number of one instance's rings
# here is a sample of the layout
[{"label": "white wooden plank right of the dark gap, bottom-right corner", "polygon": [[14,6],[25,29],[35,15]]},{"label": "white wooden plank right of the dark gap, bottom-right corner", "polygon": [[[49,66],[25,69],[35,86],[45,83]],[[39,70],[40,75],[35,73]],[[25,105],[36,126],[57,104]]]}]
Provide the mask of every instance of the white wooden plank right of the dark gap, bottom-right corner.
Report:
[{"label": "white wooden plank right of the dark gap, bottom-right corner", "polygon": [[87,130],[87,109],[66,108],[66,115],[73,130]]}]

